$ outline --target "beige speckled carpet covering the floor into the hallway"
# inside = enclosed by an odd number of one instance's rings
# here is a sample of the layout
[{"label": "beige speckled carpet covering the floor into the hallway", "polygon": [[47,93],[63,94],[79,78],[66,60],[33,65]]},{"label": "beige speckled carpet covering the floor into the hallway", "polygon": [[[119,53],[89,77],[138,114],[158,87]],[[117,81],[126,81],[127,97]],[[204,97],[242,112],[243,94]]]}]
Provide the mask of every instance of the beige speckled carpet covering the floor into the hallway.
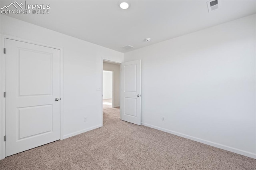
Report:
[{"label": "beige speckled carpet covering the floor into the hallway", "polygon": [[0,161],[15,169],[256,169],[256,160],[121,121],[104,108],[104,126]]}]

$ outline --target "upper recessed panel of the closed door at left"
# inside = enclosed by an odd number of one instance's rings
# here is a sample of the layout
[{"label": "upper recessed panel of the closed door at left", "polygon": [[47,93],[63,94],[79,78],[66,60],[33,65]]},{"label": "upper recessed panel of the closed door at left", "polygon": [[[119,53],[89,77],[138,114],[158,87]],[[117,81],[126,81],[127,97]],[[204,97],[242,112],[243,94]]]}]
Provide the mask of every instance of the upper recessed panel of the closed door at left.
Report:
[{"label": "upper recessed panel of the closed door at left", "polygon": [[19,53],[20,96],[52,95],[52,54],[21,48]]}]

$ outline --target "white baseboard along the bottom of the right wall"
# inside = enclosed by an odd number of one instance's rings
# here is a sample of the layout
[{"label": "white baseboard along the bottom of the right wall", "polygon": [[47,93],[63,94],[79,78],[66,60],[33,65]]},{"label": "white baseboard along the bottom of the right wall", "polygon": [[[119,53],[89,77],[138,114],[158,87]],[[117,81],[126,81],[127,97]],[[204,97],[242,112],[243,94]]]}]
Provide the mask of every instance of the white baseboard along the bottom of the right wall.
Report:
[{"label": "white baseboard along the bottom of the right wall", "polygon": [[245,150],[240,150],[240,149],[237,149],[237,148],[232,148],[230,146],[226,146],[226,145],[223,145],[223,144],[219,144],[219,143],[211,142],[211,141],[208,141],[208,140],[196,138],[194,136],[189,136],[189,135],[186,135],[186,134],[175,132],[175,131],[172,131],[172,130],[168,130],[166,128],[161,128],[161,127],[157,127],[157,126],[154,126],[154,125],[149,125],[147,123],[141,123],[141,125],[144,125],[146,127],[151,127],[151,128],[157,129],[157,130],[161,130],[161,131],[164,131],[164,132],[167,132],[167,133],[170,133],[170,134],[174,134],[174,135],[183,137],[183,138],[194,140],[196,142],[200,142],[200,143],[203,143],[203,144],[208,144],[208,145],[214,146],[216,148],[220,148],[220,149],[223,149],[223,150],[228,150],[230,152],[234,152],[234,153],[237,153],[237,154],[241,154],[241,155],[248,156],[250,158],[256,159],[256,154],[254,154],[252,152],[247,152]]}]

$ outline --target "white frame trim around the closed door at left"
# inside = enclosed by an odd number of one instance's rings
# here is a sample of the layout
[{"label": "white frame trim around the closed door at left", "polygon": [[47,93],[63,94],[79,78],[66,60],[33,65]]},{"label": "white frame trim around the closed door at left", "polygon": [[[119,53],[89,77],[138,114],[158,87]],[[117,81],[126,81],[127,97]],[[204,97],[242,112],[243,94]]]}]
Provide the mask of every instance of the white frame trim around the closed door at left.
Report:
[{"label": "white frame trim around the closed door at left", "polygon": [[[26,40],[24,38],[19,38],[16,36],[0,34],[0,160],[5,158],[5,98],[3,95],[5,91],[5,54],[3,49],[5,48],[6,38],[60,50],[60,140],[63,139],[63,47],[56,47],[53,45]],[[6,49],[6,52],[8,52],[8,49]]]}]

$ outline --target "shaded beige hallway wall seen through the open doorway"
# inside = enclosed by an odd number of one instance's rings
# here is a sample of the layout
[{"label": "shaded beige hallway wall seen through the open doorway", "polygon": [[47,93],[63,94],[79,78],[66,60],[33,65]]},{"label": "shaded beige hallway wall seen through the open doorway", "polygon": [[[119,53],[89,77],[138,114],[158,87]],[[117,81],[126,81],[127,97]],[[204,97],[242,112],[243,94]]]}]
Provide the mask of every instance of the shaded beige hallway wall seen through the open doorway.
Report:
[{"label": "shaded beige hallway wall seen through the open doorway", "polygon": [[103,63],[103,70],[113,71],[113,107],[119,107],[120,65]]}]

